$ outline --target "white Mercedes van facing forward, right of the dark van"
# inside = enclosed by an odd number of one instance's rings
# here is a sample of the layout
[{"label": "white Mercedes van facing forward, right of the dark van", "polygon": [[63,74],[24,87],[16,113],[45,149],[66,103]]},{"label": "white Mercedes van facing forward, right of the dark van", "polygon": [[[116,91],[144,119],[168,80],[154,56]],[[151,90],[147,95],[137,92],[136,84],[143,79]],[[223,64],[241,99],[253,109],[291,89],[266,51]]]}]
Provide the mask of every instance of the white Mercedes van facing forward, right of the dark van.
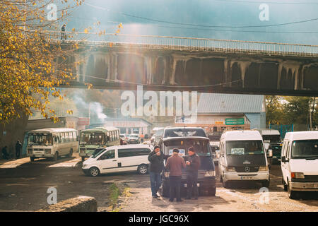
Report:
[{"label": "white Mercedes van facing forward, right of the dark van", "polygon": [[[270,155],[272,151],[269,150]],[[228,182],[254,181],[269,186],[269,167],[258,131],[226,131],[220,138],[218,167],[224,187]]]}]

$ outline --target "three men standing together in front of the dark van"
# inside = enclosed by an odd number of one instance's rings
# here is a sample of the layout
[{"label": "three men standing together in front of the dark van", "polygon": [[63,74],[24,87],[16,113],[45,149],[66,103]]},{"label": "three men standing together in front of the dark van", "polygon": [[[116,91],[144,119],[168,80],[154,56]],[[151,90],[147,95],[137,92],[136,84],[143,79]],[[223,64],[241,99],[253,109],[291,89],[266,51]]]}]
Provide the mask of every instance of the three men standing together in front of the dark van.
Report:
[{"label": "three men standing together in front of the dark van", "polygon": [[[174,201],[177,198],[177,202],[181,202],[181,178],[182,169],[186,168],[187,171],[187,198],[191,199],[192,194],[194,198],[198,199],[198,170],[200,167],[200,157],[196,155],[196,151],[193,147],[188,148],[187,162],[183,157],[179,156],[179,150],[177,148],[172,150],[172,156],[168,157],[164,155],[159,146],[155,146],[153,152],[148,155],[150,162],[149,174],[151,179],[151,193],[153,198],[158,198],[158,190],[161,186],[161,172],[163,169],[169,170],[169,182],[170,182],[170,199]],[[167,159],[166,165],[164,160]]]}]

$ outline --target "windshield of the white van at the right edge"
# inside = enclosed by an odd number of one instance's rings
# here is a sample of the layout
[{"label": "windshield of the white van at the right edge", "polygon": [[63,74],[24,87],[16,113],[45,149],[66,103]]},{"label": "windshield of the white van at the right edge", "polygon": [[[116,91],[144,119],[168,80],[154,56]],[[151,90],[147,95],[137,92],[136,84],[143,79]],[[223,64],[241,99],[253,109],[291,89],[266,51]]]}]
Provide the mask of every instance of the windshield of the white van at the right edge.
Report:
[{"label": "windshield of the white van at the right edge", "polygon": [[293,141],[292,157],[318,157],[318,140]]}]

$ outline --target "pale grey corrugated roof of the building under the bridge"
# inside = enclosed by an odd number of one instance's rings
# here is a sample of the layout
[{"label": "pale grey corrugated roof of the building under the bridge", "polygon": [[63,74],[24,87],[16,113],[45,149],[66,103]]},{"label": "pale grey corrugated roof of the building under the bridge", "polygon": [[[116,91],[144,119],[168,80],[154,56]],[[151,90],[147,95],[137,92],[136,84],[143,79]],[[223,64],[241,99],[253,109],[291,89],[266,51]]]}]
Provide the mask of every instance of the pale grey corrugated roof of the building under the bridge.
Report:
[{"label": "pale grey corrugated roof of the building under the bridge", "polygon": [[198,114],[265,112],[264,95],[201,93]]}]

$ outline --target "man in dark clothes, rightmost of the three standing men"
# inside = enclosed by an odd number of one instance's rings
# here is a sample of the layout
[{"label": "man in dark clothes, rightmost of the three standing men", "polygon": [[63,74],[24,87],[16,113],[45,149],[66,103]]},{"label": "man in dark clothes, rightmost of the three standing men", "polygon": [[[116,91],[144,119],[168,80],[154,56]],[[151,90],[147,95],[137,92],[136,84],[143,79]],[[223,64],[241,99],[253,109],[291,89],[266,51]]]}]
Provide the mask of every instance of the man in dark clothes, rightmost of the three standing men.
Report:
[{"label": "man in dark clothes, rightmost of the three standing men", "polygon": [[192,191],[194,192],[194,199],[198,199],[198,170],[200,167],[200,157],[196,155],[196,152],[193,147],[188,148],[188,160],[186,162],[187,170],[187,198],[191,199]]}]

